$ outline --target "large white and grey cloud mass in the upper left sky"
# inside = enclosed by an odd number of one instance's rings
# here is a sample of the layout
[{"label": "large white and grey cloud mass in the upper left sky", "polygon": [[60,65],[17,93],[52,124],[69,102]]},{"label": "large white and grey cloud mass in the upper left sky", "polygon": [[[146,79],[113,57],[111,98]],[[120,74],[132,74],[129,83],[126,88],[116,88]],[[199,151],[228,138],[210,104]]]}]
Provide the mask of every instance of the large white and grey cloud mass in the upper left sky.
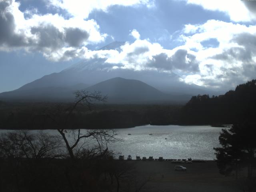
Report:
[{"label": "large white and grey cloud mass in the upper left sky", "polygon": [[[60,14],[38,14],[36,10],[22,12],[19,9],[20,2],[0,1],[0,51],[38,51],[52,61],[70,60],[74,57],[91,58],[94,52],[88,50],[86,46],[103,42],[108,35],[100,33],[100,26],[95,20],[86,20],[90,12],[107,12],[113,5],[152,6],[150,0],[46,2],[48,6],[65,10],[70,16],[65,18]],[[136,30],[133,30],[132,34],[136,39],[140,38]]]}]

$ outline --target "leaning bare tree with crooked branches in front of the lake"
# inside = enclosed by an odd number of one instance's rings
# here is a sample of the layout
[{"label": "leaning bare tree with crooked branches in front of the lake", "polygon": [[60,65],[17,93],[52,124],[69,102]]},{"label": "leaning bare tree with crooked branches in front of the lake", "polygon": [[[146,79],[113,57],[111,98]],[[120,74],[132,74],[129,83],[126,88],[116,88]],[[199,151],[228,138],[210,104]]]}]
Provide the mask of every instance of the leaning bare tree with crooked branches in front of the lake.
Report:
[{"label": "leaning bare tree with crooked branches in front of the lake", "polygon": [[[45,116],[56,124],[56,129],[65,142],[70,158],[74,159],[81,156],[80,152],[85,152],[83,149],[85,147],[89,148],[89,146],[93,149],[87,149],[87,154],[100,154],[104,156],[108,151],[108,143],[118,140],[114,137],[114,130],[97,129],[81,131],[80,128],[67,130],[67,125],[78,106],[87,106],[91,110],[96,102],[105,102],[107,97],[102,96],[100,92],[90,93],[85,90],[76,91],[75,97],[75,102],[68,108],[63,110],[59,104],[56,106],[54,113],[46,114]],[[60,116],[63,116],[64,119]],[[96,146],[90,144],[92,140],[94,140],[94,144],[97,144]]]}]

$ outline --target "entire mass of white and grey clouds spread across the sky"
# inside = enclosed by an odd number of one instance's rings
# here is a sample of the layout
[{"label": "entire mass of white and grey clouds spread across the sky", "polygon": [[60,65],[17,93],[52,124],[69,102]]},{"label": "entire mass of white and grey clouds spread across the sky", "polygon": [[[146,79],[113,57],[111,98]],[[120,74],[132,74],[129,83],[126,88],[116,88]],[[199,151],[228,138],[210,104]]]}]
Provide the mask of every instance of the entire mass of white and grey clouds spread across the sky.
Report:
[{"label": "entire mass of white and grey clouds spread across the sky", "polygon": [[[232,1],[234,7],[230,6],[229,0],[221,3],[203,0],[187,2],[226,12],[234,21],[254,18],[254,7],[249,8],[240,1]],[[93,64],[99,64],[96,61],[100,60],[100,68],[106,69],[175,71],[186,83],[210,88],[230,87],[256,78],[256,26],[232,22],[208,20],[204,24],[187,24],[179,37],[183,45],[170,50],[159,43],[140,39],[136,29],[130,31],[134,42],[126,42],[120,48],[111,50],[88,50],[88,44],[103,42],[107,36],[100,33],[100,26],[95,20],[86,20],[90,12],[96,9],[107,11],[112,5],[148,3],[147,0],[51,0],[51,5],[70,14],[70,17],[64,18],[60,14],[39,15],[35,11],[25,17],[19,10],[18,2],[0,2],[0,50],[38,51],[53,61],[76,57],[95,59]],[[76,12],[78,5],[80,9]],[[234,14],[237,7],[242,17]],[[214,46],[206,45],[213,40]]]}]

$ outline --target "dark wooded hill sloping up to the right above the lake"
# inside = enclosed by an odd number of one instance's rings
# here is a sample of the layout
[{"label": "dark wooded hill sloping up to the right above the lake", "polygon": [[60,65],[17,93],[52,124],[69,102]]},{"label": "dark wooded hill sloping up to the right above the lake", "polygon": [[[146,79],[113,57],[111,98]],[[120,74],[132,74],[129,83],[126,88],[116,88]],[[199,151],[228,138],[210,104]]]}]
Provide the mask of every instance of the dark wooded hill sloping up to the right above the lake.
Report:
[{"label": "dark wooded hill sloping up to the right above the lake", "polygon": [[256,80],[240,84],[224,95],[193,96],[182,108],[184,124],[256,122]]}]

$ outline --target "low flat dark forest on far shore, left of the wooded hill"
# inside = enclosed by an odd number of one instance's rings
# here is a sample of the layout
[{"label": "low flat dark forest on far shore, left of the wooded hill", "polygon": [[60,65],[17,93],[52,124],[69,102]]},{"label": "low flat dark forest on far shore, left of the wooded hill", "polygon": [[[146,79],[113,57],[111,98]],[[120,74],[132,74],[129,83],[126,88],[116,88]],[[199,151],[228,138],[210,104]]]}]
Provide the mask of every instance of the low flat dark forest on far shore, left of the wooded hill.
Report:
[{"label": "low flat dark forest on far shore, left of the wooded hill", "polygon": [[[51,115],[72,128],[130,128],[145,124],[178,124],[182,106],[170,104],[96,104],[77,106],[65,122],[68,103],[4,103],[0,104],[0,129],[56,129],[46,116]],[[62,120],[61,120],[62,119]]]}]

